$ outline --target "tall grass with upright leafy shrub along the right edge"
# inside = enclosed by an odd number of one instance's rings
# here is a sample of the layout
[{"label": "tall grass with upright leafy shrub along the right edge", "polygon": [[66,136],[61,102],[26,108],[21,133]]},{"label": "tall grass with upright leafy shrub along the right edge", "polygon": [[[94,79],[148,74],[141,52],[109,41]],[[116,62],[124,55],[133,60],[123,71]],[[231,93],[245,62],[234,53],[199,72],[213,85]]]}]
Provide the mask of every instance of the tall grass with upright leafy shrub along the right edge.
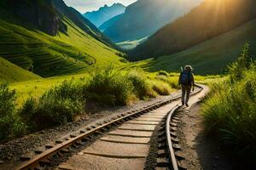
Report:
[{"label": "tall grass with upright leafy shrub along the right edge", "polygon": [[202,112],[208,132],[234,148],[237,155],[256,158],[255,62],[245,46],[241,57],[230,65],[229,79],[214,83]]}]

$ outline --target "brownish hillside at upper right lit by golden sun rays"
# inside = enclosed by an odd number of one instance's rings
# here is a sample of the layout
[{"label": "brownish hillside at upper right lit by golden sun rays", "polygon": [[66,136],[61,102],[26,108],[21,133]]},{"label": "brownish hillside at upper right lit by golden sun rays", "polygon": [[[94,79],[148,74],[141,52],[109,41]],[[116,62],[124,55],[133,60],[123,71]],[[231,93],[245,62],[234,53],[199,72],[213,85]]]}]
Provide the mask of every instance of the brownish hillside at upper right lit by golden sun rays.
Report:
[{"label": "brownish hillside at upper right lit by golden sun rays", "polygon": [[132,59],[174,54],[217,37],[256,17],[254,0],[206,0],[139,45]]}]

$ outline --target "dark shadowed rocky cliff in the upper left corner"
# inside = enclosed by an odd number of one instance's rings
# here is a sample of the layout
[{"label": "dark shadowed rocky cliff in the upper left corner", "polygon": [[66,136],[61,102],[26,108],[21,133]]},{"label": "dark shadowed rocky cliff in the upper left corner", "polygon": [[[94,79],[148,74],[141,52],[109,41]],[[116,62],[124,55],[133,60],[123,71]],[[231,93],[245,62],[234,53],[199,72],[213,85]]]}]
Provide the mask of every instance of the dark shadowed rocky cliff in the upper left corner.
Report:
[{"label": "dark shadowed rocky cliff in the upper left corner", "polygon": [[26,28],[36,28],[51,36],[55,36],[59,31],[67,31],[67,27],[54,10],[52,0],[2,0],[0,9],[2,20]]}]

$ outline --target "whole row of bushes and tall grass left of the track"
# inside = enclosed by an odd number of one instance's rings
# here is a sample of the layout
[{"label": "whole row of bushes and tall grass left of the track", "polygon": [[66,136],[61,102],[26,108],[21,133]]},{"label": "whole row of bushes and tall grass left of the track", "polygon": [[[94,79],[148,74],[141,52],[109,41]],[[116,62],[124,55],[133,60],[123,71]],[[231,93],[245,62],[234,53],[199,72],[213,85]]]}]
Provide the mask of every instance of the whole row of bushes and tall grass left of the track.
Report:
[{"label": "whole row of bushes and tall grass left of the track", "polygon": [[38,98],[26,99],[17,108],[15,90],[3,84],[0,86],[0,99],[4,101],[0,103],[0,139],[73,122],[86,112],[88,102],[131,105],[139,99],[168,95],[171,91],[168,82],[148,77],[144,71],[117,71],[110,66],[92,71],[88,77],[61,82]]}]

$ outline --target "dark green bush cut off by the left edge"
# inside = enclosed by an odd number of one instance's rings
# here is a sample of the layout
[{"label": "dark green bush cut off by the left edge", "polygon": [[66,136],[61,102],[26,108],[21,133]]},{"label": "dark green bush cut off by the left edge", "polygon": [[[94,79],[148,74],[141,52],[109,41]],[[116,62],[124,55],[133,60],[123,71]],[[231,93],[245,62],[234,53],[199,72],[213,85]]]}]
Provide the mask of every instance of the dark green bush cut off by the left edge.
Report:
[{"label": "dark green bush cut off by the left edge", "polygon": [[16,116],[15,90],[10,90],[6,83],[0,84],[0,139],[9,139],[24,133],[23,124]]}]

